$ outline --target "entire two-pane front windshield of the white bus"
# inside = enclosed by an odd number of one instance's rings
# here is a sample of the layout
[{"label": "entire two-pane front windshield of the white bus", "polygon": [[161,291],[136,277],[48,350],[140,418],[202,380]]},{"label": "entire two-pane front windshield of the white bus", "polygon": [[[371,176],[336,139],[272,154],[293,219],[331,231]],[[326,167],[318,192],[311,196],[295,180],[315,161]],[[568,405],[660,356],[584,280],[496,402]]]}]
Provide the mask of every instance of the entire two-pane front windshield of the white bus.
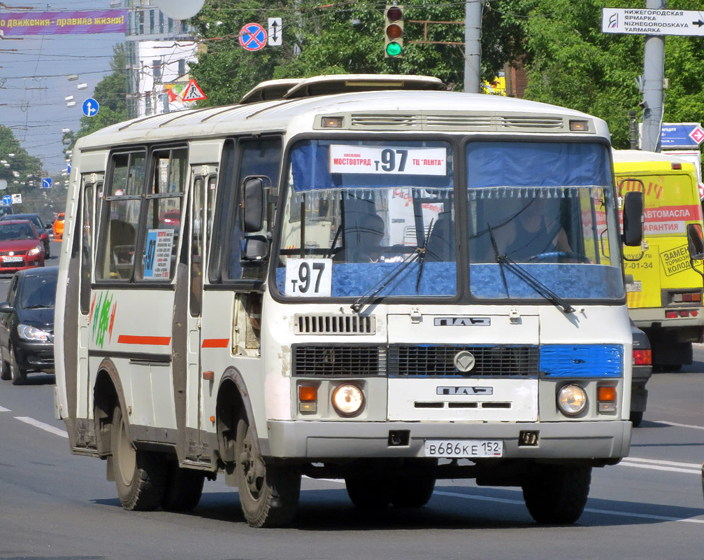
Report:
[{"label": "entire two-pane front windshield of the white bus", "polygon": [[458,220],[448,142],[297,142],[279,293],[452,297],[469,276],[474,298],[544,299],[516,265],[560,298],[624,297],[607,147],[470,142],[465,157]]}]

